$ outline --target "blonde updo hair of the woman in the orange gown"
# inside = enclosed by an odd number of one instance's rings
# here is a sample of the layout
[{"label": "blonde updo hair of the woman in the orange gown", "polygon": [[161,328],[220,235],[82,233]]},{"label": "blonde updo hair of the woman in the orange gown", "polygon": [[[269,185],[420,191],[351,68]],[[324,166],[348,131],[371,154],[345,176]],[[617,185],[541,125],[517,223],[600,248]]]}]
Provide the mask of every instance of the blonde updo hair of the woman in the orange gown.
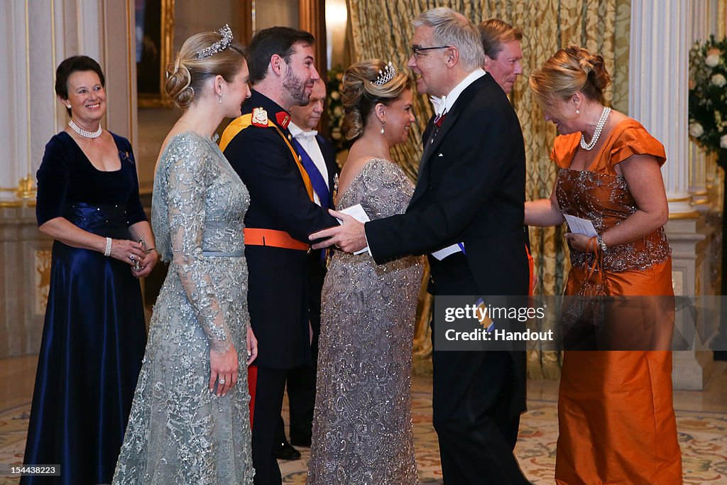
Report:
[{"label": "blonde updo hair of the woman in the orange gown", "polygon": [[603,57],[570,45],[555,52],[545,64],[530,75],[530,87],[542,106],[555,100],[568,100],[580,92],[588,100],[604,104],[603,89],[611,84]]}]

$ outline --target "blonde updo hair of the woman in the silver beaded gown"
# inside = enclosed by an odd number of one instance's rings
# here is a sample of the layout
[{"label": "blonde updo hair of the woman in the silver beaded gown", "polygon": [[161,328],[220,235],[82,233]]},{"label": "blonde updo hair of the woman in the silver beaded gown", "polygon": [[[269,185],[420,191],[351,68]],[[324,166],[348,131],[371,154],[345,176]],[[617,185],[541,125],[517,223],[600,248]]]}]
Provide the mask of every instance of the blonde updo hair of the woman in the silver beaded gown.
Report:
[{"label": "blonde updo hair of the woman in the silver beaded gown", "polygon": [[374,84],[379,71],[384,72],[387,63],[379,59],[364,60],[350,65],[343,73],[341,103],[345,113],[343,132],[347,140],[355,140],[364,133],[371,111],[379,103],[390,105],[406,89],[411,89],[411,79],[404,73],[396,73],[390,81]]}]

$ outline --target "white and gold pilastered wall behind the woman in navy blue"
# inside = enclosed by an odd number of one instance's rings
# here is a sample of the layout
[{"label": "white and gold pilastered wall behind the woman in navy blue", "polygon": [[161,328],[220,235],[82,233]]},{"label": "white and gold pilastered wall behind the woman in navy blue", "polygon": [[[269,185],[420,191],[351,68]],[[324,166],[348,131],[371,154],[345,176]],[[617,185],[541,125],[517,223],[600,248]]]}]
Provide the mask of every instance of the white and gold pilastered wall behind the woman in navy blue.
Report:
[{"label": "white and gold pilastered wall behind the woman in navy blue", "polygon": [[105,73],[102,126],[136,138],[134,0],[0,2],[0,358],[38,350],[47,297],[49,239],[36,228],[35,174],[48,140],[68,122],[55,68],[71,55]]}]

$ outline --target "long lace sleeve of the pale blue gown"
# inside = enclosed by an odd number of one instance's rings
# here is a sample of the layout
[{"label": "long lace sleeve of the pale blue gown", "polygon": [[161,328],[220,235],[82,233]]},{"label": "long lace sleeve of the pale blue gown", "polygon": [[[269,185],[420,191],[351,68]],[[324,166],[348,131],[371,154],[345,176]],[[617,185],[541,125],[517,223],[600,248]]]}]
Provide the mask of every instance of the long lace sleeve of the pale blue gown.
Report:
[{"label": "long lace sleeve of the pale blue gown", "polygon": [[212,153],[199,140],[182,145],[180,149],[169,150],[172,157],[168,175],[169,241],[172,249],[172,265],[169,268],[177,271],[212,349],[225,352],[232,345],[230,330],[217,299],[209,260],[202,254],[206,191],[212,179],[209,172]]}]

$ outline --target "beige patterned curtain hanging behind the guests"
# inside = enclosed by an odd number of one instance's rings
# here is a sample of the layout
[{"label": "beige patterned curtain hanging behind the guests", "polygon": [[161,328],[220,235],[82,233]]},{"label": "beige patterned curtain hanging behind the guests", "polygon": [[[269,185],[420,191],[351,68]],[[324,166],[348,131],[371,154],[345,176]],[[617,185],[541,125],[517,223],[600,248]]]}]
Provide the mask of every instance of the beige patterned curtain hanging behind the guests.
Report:
[{"label": "beige patterned curtain hanging behind the guests", "polygon": [[[568,44],[579,44],[599,52],[608,71],[614,73],[614,86],[606,97],[616,108],[628,104],[628,19],[630,0],[348,0],[353,60],[378,57],[406,69],[409,40],[414,28],[411,19],[434,7],[450,7],[474,23],[498,17],[523,30],[523,76],[515,84],[511,99],[523,127],[527,156],[527,199],[550,196],[555,180],[555,165],[549,159],[555,128],[546,124],[534,103],[527,79],[550,55]],[[624,29],[625,27],[625,29]],[[619,31],[616,31],[616,28]],[[624,81],[625,79],[625,81]],[[614,94],[614,89],[617,89]],[[624,101],[625,100],[625,101]],[[415,97],[417,127],[412,127],[411,143],[395,148],[395,159],[412,180],[416,178],[422,129],[432,114],[424,96]],[[569,268],[563,227],[531,228],[530,241],[535,258],[538,284],[536,294],[561,294]],[[424,302],[417,324],[415,352],[426,356],[429,301]],[[534,351],[529,355],[531,377],[557,378],[560,360],[557,353]]]}]

